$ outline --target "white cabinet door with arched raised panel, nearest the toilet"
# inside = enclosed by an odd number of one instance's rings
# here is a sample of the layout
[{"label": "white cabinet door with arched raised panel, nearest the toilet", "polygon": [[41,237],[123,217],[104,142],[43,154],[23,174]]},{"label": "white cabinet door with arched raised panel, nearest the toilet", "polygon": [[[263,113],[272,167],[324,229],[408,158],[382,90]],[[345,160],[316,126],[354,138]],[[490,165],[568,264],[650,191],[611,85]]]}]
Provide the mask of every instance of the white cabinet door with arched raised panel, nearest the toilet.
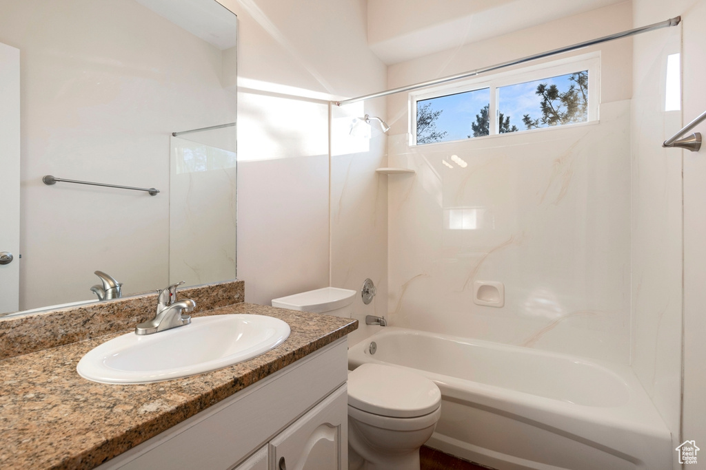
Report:
[{"label": "white cabinet door with arched raised panel, nearest the toilet", "polygon": [[344,384],[270,440],[270,470],[347,469],[347,419]]}]

